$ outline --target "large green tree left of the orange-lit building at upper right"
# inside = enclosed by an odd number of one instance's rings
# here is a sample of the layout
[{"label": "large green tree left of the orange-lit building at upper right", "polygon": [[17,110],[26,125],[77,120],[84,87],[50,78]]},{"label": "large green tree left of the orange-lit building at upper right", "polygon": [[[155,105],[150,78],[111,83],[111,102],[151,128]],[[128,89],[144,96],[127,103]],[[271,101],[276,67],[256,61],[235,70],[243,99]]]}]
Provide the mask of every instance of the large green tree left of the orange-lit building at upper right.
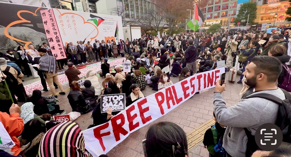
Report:
[{"label": "large green tree left of the orange-lit building at upper right", "polygon": [[[255,19],[257,18],[257,3],[255,2],[243,3],[238,11],[234,23],[241,22],[242,19],[245,19],[247,22],[248,15],[250,15],[249,24],[252,25]],[[245,24],[246,22],[241,22],[241,24]]]}]

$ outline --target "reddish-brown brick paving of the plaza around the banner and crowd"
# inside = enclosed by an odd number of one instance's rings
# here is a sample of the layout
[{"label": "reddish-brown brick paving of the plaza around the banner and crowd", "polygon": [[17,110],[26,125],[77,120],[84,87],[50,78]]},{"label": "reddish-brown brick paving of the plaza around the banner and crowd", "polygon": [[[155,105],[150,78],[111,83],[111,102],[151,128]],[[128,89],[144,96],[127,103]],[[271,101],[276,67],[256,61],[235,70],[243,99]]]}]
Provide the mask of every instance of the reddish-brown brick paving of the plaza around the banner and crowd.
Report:
[{"label": "reddish-brown brick paving of the plaza around the banner and crowd", "polygon": [[[226,80],[228,78],[228,73],[226,74]],[[236,77],[237,81],[239,76]],[[178,82],[178,78],[171,77],[173,83]],[[102,83],[103,78],[99,79],[99,82]],[[63,86],[64,89],[69,88],[68,84]],[[234,105],[239,101],[239,92],[242,89],[242,84],[237,83],[226,83],[226,91],[223,92],[223,98],[226,101],[227,106]],[[59,92],[59,89],[56,90]],[[147,86],[145,90],[142,91],[145,96],[154,93],[150,87]],[[214,88],[209,90],[204,90],[200,94],[195,94],[194,97],[185,101],[177,108],[170,111],[168,114],[160,117],[152,123],[160,121],[170,121],[178,124],[183,128],[187,133],[199,125],[203,124],[207,120],[212,118],[213,113],[213,92]],[[44,92],[43,96],[49,95],[51,92]],[[72,108],[67,99],[66,95],[58,95],[58,104],[61,106],[61,109],[64,109],[67,112],[71,112]],[[78,119],[75,120],[79,124],[82,130],[85,130],[90,124],[93,123],[93,119],[90,117],[91,113],[81,115]],[[111,151],[107,153],[109,157],[140,157],[143,156],[143,148],[141,141],[145,137],[145,133],[148,130],[148,127],[151,124],[142,127],[141,129],[130,134],[123,142],[114,147]],[[208,157],[208,151],[203,147],[203,144],[195,147],[192,150],[189,150],[189,157],[203,156]]]}]

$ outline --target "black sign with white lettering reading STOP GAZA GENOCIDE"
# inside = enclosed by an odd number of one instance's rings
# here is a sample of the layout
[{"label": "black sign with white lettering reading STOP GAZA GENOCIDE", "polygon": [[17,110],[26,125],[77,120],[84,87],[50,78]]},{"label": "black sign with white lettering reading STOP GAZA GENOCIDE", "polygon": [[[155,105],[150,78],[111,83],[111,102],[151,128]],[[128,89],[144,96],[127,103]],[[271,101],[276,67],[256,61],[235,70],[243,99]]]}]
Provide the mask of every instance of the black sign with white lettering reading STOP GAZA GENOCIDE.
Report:
[{"label": "black sign with white lettering reading STOP GAZA GENOCIDE", "polygon": [[113,111],[125,110],[125,94],[101,95],[101,113],[107,112],[108,108]]}]

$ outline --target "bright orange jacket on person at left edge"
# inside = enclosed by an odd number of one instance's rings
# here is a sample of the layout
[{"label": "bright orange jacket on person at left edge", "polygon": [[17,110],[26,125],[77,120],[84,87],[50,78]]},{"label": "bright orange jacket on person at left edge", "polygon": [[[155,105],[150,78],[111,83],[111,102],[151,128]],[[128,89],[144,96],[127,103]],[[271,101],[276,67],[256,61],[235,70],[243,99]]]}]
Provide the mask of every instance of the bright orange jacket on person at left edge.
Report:
[{"label": "bright orange jacket on person at left edge", "polygon": [[13,113],[9,116],[7,113],[0,112],[0,121],[15,143],[15,146],[11,148],[11,152],[14,152],[13,155],[17,156],[21,149],[20,142],[16,136],[19,136],[24,129],[23,119],[19,117],[19,113]]}]

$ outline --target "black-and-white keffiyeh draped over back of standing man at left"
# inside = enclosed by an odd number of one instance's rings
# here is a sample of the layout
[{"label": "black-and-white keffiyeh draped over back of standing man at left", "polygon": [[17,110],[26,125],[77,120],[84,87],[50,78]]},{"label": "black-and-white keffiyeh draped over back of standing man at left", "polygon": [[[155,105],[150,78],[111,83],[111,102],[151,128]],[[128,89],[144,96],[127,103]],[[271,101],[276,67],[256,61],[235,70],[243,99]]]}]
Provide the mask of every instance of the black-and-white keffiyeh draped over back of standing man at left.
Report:
[{"label": "black-and-white keffiyeh draped over back of standing man at left", "polygon": [[56,59],[53,56],[43,55],[39,60],[39,69],[45,72],[56,73]]}]

